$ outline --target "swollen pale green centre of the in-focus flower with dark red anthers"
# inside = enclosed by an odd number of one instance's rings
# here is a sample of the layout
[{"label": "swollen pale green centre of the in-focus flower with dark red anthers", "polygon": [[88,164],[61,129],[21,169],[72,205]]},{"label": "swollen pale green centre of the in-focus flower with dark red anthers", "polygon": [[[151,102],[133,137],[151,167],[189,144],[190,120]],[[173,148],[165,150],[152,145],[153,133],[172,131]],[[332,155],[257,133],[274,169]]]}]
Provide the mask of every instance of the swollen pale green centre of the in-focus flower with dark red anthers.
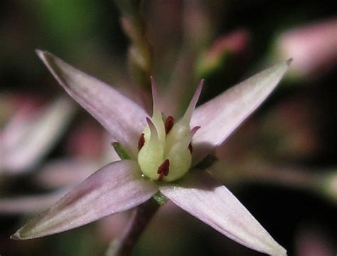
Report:
[{"label": "swollen pale green centre of the in-focus flower with dark red anthers", "polygon": [[164,124],[156,115],[147,121],[144,139],[140,139],[144,146],[140,145],[138,154],[141,171],[154,181],[176,181],[191,167],[191,139],[198,127],[190,132],[189,123],[183,119],[173,124],[168,117]]}]

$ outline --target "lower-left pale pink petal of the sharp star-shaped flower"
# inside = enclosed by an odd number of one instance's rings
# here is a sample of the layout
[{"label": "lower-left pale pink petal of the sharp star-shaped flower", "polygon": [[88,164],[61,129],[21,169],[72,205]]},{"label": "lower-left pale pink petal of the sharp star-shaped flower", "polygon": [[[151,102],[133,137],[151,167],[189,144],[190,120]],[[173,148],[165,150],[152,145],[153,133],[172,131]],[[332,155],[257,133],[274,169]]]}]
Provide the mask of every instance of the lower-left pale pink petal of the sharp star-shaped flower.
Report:
[{"label": "lower-left pale pink petal of the sharp star-shaped flower", "polygon": [[24,225],[12,238],[39,238],[77,228],[134,208],[156,191],[154,182],[141,178],[137,162],[116,161],[96,171],[52,208]]}]

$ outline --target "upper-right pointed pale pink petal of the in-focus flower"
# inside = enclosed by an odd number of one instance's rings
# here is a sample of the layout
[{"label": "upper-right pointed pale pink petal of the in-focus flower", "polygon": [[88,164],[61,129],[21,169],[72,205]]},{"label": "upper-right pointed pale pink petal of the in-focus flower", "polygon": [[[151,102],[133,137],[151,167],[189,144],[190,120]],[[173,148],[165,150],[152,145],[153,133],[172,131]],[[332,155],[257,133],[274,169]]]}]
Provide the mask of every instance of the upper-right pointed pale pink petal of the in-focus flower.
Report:
[{"label": "upper-right pointed pale pink petal of the in-focus flower", "polygon": [[224,140],[261,105],[282,79],[290,61],[253,75],[197,107],[191,127],[200,126],[193,138],[193,163],[197,163]]}]

